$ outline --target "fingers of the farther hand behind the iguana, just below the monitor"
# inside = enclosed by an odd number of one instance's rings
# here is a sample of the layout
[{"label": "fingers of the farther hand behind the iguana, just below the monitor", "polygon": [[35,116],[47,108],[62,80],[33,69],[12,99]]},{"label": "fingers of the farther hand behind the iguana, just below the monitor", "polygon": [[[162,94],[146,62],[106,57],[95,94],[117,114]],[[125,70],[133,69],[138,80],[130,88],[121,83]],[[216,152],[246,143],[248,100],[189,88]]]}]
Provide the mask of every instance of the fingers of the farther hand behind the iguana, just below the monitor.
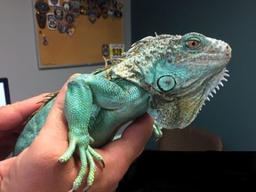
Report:
[{"label": "fingers of the farther hand behind the iguana, just below the monitor", "polygon": [[45,96],[46,93],[1,107],[0,131],[12,130],[23,124],[33,112],[42,106],[42,103],[38,102],[44,100]]}]

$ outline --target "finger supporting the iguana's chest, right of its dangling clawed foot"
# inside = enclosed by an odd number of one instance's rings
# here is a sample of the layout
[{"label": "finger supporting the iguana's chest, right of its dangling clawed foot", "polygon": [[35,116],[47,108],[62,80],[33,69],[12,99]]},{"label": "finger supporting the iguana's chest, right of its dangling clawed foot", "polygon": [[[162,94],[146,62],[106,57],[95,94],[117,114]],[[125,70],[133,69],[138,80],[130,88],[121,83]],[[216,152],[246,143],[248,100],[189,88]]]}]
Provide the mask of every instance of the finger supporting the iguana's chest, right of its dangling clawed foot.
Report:
[{"label": "finger supporting the iguana's chest, right of its dangling clawed foot", "polygon": [[96,162],[95,182],[90,190],[115,191],[129,166],[140,155],[152,134],[154,119],[145,114],[137,118],[123,132],[122,137],[96,149],[103,156],[105,168]]}]

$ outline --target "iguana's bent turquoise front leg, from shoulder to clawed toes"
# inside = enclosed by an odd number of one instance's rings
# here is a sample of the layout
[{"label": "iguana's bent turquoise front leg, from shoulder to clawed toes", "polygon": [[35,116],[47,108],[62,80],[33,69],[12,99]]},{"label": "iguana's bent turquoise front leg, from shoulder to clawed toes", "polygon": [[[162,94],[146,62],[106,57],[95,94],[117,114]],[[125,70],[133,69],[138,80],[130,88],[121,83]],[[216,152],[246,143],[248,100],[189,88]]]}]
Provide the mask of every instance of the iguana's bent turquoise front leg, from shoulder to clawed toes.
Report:
[{"label": "iguana's bent turquoise front leg, from shoulder to clawed toes", "polygon": [[80,187],[87,172],[87,164],[89,165],[87,186],[92,185],[95,172],[93,158],[103,163],[103,158],[89,146],[93,142],[88,132],[92,103],[100,108],[117,109],[127,105],[128,98],[127,92],[104,77],[83,74],[68,83],[64,113],[68,121],[69,146],[59,160],[61,163],[67,162],[75,149],[78,149],[81,169],[73,183],[73,189]]}]

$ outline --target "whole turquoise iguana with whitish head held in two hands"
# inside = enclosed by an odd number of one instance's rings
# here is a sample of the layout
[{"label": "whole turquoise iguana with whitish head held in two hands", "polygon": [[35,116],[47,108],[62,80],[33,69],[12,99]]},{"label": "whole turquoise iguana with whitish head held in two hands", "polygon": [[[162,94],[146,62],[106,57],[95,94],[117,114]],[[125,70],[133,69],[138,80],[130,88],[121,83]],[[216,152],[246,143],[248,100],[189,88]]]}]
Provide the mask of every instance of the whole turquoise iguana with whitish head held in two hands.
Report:
[{"label": "whole turquoise iguana with whitish head held in two hands", "polygon": [[[73,189],[80,187],[87,171],[87,185],[92,185],[92,158],[104,164],[93,148],[112,140],[122,124],[148,113],[155,118],[156,138],[162,136],[162,127],[183,128],[190,124],[204,101],[216,93],[222,80],[227,80],[230,59],[227,43],[196,32],[148,36],[132,44],[121,59],[107,60],[112,63],[108,68],[71,79],[64,103],[69,146],[59,161],[67,162],[76,149],[79,151],[82,167]],[[28,121],[14,156],[35,139],[56,94]]]}]

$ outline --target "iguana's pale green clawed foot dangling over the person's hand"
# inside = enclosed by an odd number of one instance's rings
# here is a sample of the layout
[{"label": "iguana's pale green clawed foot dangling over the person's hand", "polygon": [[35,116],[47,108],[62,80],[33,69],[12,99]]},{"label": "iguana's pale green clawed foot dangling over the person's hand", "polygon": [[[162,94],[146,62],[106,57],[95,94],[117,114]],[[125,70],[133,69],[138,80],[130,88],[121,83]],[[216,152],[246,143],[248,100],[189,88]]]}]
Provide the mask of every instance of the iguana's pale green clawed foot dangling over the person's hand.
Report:
[{"label": "iguana's pale green clawed foot dangling over the person's hand", "polygon": [[105,167],[104,161],[102,156],[98,154],[89,144],[86,142],[79,142],[77,140],[70,140],[68,150],[59,158],[60,163],[68,162],[70,157],[73,155],[75,149],[77,148],[81,160],[81,168],[76,177],[76,180],[73,183],[73,188],[71,191],[76,191],[82,184],[84,180],[84,176],[87,172],[87,166],[89,167],[88,176],[87,176],[87,187],[90,188],[94,181],[94,172],[96,170],[96,165],[93,159],[99,161],[103,167]]}]

